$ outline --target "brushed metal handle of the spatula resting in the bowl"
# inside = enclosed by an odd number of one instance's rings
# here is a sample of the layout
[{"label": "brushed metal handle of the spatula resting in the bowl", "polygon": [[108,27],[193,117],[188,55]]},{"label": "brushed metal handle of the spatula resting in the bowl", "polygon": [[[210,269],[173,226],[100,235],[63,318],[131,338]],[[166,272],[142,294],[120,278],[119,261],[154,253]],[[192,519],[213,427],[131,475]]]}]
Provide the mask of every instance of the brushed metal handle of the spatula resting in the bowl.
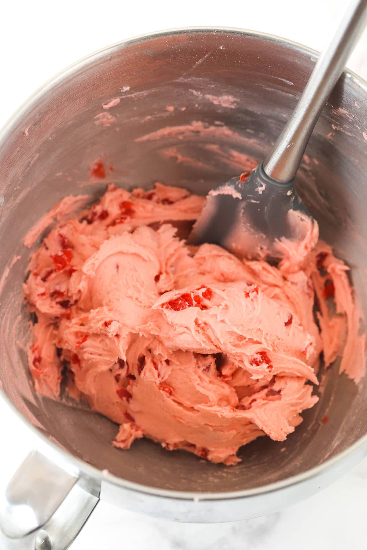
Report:
[{"label": "brushed metal handle of the spatula resting in the bowl", "polygon": [[335,35],[317,60],[291,118],[263,163],[270,178],[286,183],[295,177],[317,119],[366,20],[367,0],[353,0]]}]

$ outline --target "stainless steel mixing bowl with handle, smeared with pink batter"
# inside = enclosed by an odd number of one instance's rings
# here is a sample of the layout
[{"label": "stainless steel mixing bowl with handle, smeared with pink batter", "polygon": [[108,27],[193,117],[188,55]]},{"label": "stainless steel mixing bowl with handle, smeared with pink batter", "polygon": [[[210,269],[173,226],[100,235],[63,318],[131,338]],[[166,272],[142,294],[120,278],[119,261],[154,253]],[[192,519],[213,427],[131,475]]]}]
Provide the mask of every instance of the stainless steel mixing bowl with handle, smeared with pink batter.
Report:
[{"label": "stainless steel mixing bowl with handle, smeared with pink batter", "polygon": [[[46,210],[69,193],[95,199],[105,182],[130,189],[158,180],[205,194],[246,167],[245,157],[233,151],[257,160],[266,155],[315,56],[281,38],[236,29],[138,37],[56,76],[2,130],[0,393],[9,415],[17,412],[37,433],[41,449],[31,453],[2,497],[0,526],[9,548],[44,548],[47,537],[56,538],[55,547],[67,547],[98,497],[178,521],[269,514],[325,487],[366,454],[367,378],[357,387],[338,376],[337,364],[322,374],[319,403],[304,412],[286,442],[259,438],[240,450],[240,464],[226,467],[146,440],[129,451],[113,448],[117,426],[111,421],[35,394],[17,345],[25,342],[28,327],[21,282],[29,251],[21,239]],[[102,108],[116,97],[117,105]],[[352,267],[365,312],[366,117],[367,85],[346,72],[298,175],[299,193],[322,237]],[[154,139],[165,127],[173,129]],[[99,183],[89,177],[89,164],[98,157],[113,166]],[[20,260],[5,277],[15,255]]]}]

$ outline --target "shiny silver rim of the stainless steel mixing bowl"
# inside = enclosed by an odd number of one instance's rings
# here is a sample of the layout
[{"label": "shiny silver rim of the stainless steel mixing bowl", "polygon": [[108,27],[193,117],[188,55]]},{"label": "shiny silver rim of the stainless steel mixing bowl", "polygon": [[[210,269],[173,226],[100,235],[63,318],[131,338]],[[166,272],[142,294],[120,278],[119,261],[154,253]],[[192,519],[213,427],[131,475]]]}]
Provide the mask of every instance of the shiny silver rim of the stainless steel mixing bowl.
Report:
[{"label": "shiny silver rim of the stainless steel mixing bowl", "polygon": [[[320,53],[298,42],[288,40],[287,38],[268,34],[266,32],[241,29],[239,27],[221,27],[221,26],[178,27],[174,29],[159,30],[159,31],[150,32],[143,35],[134,36],[131,38],[126,38],[125,40],[115,42],[112,45],[105,46],[100,50],[90,53],[89,55],[70,64],[68,67],[61,70],[52,78],[48,79],[45,84],[41,85],[35,92],[33,92],[33,94],[31,94],[20,105],[20,107],[18,107],[18,109],[9,117],[7,122],[0,129],[0,145],[2,142],[4,142],[4,140],[7,139],[7,135],[12,132],[13,128],[17,125],[20,118],[23,117],[23,115],[28,111],[28,109],[32,105],[34,105],[39,100],[39,98],[41,98],[43,95],[47,93],[48,89],[56,85],[58,81],[63,80],[69,74],[73,74],[77,72],[79,69],[83,68],[85,64],[91,61],[94,61],[98,57],[105,55],[107,52],[112,53],[113,51],[120,50],[122,48],[134,45],[136,43],[139,43],[139,42],[141,43],[141,42],[150,40],[151,38],[170,37],[174,35],[181,35],[181,34],[183,35],[188,33],[227,34],[227,35],[235,34],[240,36],[249,36],[249,37],[257,38],[259,40],[266,40],[273,43],[281,44],[283,46],[291,48],[292,50],[298,51],[300,53],[310,54],[312,56],[311,59],[313,57],[317,58],[317,56],[319,56],[319,53]],[[360,76],[358,76],[348,68],[344,69],[343,75],[347,78],[353,78],[356,81],[356,83],[358,83],[358,86],[363,88],[367,93],[367,81],[360,78]],[[332,458],[325,460],[325,462],[311,468],[310,470],[306,470],[301,474],[287,477],[281,481],[267,483],[267,485],[263,485],[253,489],[244,489],[242,491],[230,491],[230,492],[213,492],[213,493],[177,491],[176,489],[175,490],[159,489],[156,487],[143,485],[141,483],[124,480],[124,478],[122,477],[116,476],[107,471],[102,471],[97,467],[88,464],[84,460],[76,458],[76,456],[74,456],[72,453],[69,453],[67,450],[59,447],[58,444],[51,441],[51,439],[45,436],[36,426],[32,425],[32,423],[29,420],[27,420],[23,416],[23,414],[21,414],[21,412],[13,404],[10,398],[3,392],[1,386],[0,386],[0,398],[9,406],[10,410],[12,410],[13,413],[16,416],[18,416],[18,418],[35,434],[37,440],[40,443],[41,450],[45,449],[46,447],[45,454],[50,456],[50,458],[55,459],[60,464],[62,464],[62,466],[66,470],[70,471],[70,469],[73,469],[78,471],[78,475],[81,475],[81,477],[83,477],[83,474],[84,474],[84,476],[86,475],[100,482],[106,481],[116,487],[129,489],[135,492],[150,494],[151,496],[155,496],[155,497],[176,498],[180,500],[193,500],[198,498],[200,498],[200,500],[228,500],[228,499],[232,500],[235,498],[247,498],[255,495],[271,493],[286,487],[290,487],[292,485],[297,485],[299,483],[302,483],[308,480],[308,478],[316,477],[320,475],[321,472],[337,464],[339,461],[343,460],[344,458],[347,458],[349,455],[354,453],[355,450],[357,450],[358,448],[362,447],[365,443],[367,443],[367,434],[365,434],[364,436],[360,437],[356,442],[354,442],[352,445],[350,445],[350,447],[348,447],[347,449],[344,449],[341,453],[338,453]]]}]

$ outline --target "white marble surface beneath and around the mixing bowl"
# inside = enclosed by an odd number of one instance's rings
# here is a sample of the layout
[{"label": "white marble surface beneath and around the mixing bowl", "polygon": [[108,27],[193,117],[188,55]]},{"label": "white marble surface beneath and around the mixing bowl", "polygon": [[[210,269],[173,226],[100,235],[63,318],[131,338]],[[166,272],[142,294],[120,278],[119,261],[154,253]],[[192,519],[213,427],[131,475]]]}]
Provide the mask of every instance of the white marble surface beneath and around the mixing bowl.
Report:
[{"label": "white marble surface beneath and around the mixing bowl", "polygon": [[[346,0],[235,0],[148,5],[117,0],[6,2],[2,5],[0,124],[53,74],[76,59],[145,32],[180,26],[242,26],[320,50]],[[367,33],[348,67],[367,78]],[[32,435],[0,403],[0,486],[32,447]],[[16,439],[16,441],[14,441]],[[324,492],[264,518],[186,525],[146,518],[100,503],[73,550],[359,550],[366,548],[367,459]],[[0,550],[3,550],[2,548]],[[6,550],[6,549],[4,549]]]}]

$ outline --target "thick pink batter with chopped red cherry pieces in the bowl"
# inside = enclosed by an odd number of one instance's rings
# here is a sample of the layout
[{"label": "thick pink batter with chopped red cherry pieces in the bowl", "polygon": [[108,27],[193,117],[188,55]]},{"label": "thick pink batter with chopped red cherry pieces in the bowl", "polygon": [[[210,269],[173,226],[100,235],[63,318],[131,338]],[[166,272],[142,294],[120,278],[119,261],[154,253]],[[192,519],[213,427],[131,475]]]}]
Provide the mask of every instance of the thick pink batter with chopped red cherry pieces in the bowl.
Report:
[{"label": "thick pink batter with chopped red cherry pieces in the bowl", "polygon": [[204,200],[110,185],[58,221],[24,284],[38,317],[28,357],[37,392],[51,398],[67,364],[69,395],[120,425],[116,447],[145,436],[230,465],[245,443],[283,441],[302,422],[321,352],[326,365],[341,355],[358,382],[365,336],[348,267],[317,242],[316,223],[300,245],[280,243],[278,267],[240,261],[177,237],[171,222],[194,221]]}]

